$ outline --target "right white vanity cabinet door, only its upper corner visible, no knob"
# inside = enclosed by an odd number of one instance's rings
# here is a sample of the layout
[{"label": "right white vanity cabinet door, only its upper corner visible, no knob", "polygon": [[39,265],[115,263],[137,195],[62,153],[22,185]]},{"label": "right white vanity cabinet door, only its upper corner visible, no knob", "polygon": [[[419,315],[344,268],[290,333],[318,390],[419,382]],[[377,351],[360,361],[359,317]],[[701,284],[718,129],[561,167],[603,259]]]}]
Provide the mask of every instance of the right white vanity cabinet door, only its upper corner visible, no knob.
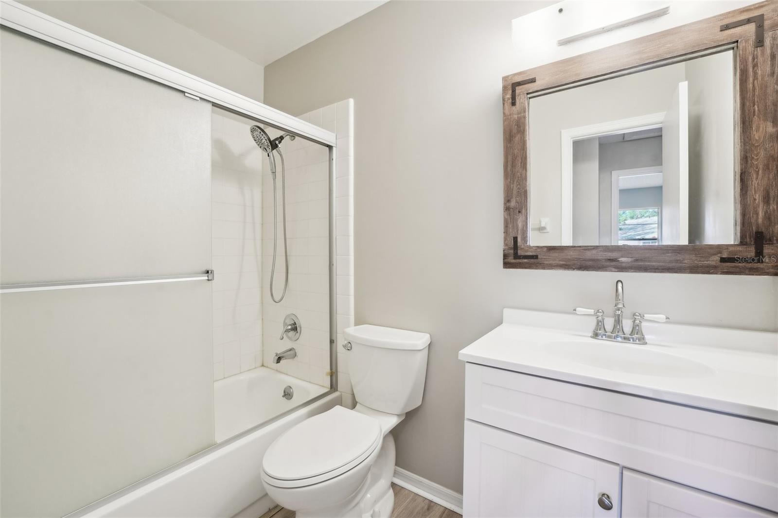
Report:
[{"label": "right white vanity cabinet door, only its upper corner visible, no knob", "polygon": [[778,516],[718,495],[661,478],[624,470],[622,518],[751,518]]}]

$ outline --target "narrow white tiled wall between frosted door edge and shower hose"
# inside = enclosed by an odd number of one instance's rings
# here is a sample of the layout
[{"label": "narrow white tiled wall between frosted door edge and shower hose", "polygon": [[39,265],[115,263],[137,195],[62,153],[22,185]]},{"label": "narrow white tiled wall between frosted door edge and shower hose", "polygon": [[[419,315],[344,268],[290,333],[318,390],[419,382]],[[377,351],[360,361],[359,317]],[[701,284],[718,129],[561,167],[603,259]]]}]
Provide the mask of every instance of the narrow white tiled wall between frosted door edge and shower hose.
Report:
[{"label": "narrow white tiled wall between frosted door edge and shower hose", "polygon": [[262,155],[251,124],[213,109],[214,380],[262,365]]}]

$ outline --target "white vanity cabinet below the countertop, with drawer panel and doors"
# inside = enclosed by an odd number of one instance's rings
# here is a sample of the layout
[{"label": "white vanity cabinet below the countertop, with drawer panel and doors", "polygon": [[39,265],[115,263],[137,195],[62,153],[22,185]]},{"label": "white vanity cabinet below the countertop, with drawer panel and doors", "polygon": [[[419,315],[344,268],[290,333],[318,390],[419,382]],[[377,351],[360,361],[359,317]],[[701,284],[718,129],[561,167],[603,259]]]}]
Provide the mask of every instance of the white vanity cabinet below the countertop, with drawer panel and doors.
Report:
[{"label": "white vanity cabinet below the countertop, with drawer panel and doors", "polygon": [[464,516],[778,516],[773,423],[465,372]]}]

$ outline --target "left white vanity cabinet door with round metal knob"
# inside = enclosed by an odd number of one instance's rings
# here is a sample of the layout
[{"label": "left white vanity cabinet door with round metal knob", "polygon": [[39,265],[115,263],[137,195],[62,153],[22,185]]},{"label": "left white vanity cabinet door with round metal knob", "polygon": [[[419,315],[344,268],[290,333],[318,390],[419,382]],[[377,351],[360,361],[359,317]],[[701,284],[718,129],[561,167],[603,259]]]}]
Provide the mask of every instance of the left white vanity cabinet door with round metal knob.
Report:
[{"label": "left white vanity cabinet door with round metal knob", "polygon": [[[597,500],[607,493],[613,509]],[[464,422],[464,516],[616,518],[619,466],[478,422]]]}]

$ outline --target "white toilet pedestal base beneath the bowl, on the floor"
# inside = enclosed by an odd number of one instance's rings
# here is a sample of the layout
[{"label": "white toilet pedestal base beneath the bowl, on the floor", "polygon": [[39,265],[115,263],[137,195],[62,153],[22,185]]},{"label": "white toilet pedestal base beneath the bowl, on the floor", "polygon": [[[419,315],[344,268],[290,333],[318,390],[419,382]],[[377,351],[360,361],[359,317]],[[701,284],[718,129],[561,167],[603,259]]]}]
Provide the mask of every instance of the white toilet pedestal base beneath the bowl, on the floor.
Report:
[{"label": "white toilet pedestal base beneath the bowl, on the floor", "polygon": [[395,450],[391,433],[384,436],[380,448],[367,478],[345,502],[328,509],[300,509],[297,518],[389,518],[394,509],[391,478],[394,476]]}]

